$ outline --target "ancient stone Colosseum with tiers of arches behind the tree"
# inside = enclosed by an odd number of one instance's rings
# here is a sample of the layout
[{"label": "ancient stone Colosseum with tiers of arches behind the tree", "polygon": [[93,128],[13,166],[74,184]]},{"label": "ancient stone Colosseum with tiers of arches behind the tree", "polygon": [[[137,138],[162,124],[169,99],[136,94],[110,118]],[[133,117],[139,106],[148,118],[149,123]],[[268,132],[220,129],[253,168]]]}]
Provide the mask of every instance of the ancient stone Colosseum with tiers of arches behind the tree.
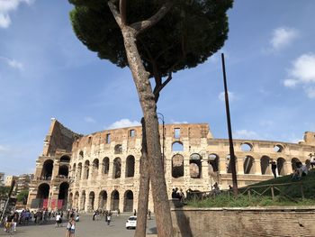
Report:
[{"label": "ancient stone Colosseum with tiers of arches behind the tree", "polygon": [[[209,191],[232,183],[229,140],[213,138],[207,123],[159,126],[166,187]],[[292,173],[297,161],[315,155],[315,132],[305,132],[299,143],[234,140],[238,186]],[[78,208],[131,212],[139,196],[141,127],[81,135],[51,119],[43,152],[36,160],[28,198],[29,208]],[[148,208],[153,210],[152,196]]]}]

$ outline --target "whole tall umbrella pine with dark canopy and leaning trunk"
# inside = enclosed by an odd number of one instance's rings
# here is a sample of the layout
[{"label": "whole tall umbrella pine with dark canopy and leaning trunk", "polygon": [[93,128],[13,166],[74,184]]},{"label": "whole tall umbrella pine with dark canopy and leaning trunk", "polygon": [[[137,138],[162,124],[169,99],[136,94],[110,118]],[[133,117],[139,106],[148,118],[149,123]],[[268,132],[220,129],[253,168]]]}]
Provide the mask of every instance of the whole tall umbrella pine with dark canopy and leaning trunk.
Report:
[{"label": "whole tall umbrella pine with dark canopy and leaning trunk", "polygon": [[[158,134],[157,100],[173,72],[196,67],[220,49],[227,39],[226,12],[232,0],[69,2],[76,5],[70,17],[77,38],[89,50],[96,51],[99,58],[109,59],[121,68],[128,66],[131,70],[144,117],[142,124],[146,132],[143,133],[148,136],[144,137],[147,148],[142,148],[145,151],[142,158],[149,154],[157,233],[172,236]],[[154,88],[149,80],[151,77]],[[143,178],[148,184],[146,171],[141,170],[141,180]]]}]

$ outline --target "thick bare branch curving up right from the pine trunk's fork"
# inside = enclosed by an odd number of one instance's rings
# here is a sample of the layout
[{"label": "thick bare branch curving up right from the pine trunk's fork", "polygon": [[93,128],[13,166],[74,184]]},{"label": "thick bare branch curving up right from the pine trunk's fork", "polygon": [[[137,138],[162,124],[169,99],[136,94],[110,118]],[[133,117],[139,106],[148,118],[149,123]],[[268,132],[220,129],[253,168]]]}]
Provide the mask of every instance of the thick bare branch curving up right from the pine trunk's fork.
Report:
[{"label": "thick bare branch curving up right from the pine trunk's fork", "polygon": [[138,22],[138,23],[132,23],[130,26],[136,30],[136,32],[143,32],[144,30],[148,29],[149,27],[155,25],[159,20],[161,20],[171,9],[171,7],[174,5],[175,0],[167,0],[164,5],[161,6],[161,8],[157,11],[156,14],[152,15],[147,20]]}]

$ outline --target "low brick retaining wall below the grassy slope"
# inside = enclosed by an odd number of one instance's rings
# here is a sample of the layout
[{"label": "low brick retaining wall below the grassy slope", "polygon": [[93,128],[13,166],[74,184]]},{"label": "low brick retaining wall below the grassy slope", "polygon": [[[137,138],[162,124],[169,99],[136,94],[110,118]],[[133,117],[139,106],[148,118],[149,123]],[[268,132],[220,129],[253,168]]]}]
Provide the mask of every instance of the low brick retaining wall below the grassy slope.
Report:
[{"label": "low brick retaining wall below the grassy slope", "polygon": [[172,208],[175,237],[314,237],[315,206]]}]

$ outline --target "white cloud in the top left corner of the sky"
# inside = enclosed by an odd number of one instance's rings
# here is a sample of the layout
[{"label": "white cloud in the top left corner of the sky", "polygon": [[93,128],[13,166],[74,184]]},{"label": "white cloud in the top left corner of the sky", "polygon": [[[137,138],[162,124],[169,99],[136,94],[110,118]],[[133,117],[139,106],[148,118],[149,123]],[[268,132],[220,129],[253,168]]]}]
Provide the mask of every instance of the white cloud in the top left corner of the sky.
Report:
[{"label": "white cloud in the top left corner of the sky", "polygon": [[10,12],[18,8],[21,3],[31,5],[34,0],[0,0],[0,27],[8,28],[11,24]]}]

